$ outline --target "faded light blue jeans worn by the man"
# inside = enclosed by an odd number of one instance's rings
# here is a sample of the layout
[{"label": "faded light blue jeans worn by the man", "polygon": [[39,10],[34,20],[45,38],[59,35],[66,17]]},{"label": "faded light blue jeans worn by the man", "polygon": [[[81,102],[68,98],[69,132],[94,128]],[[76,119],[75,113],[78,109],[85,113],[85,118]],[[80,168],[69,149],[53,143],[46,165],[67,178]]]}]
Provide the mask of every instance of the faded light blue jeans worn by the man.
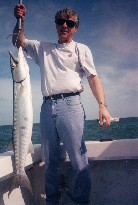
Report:
[{"label": "faded light blue jeans worn by the man", "polygon": [[41,136],[45,155],[45,190],[48,205],[58,205],[60,141],[75,171],[73,199],[83,203],[89,199],[91,180],[83,139],[84,109],[80,96],[43,102],[40,114]]}]

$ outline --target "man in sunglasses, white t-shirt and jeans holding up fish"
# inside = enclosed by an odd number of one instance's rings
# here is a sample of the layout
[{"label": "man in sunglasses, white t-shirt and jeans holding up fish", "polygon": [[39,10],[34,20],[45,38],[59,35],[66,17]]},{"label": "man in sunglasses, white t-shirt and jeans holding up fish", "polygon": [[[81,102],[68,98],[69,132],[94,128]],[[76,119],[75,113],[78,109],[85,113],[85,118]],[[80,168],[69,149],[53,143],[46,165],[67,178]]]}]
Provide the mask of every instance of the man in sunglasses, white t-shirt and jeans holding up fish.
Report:
[{"label": "man in sunglasses, white t-shirt and jeans holding up fish", "polygon": [[[22,46],[40,67],[44,99],[40,125],[46,163],[46,204],[59,204],[60,141],[68,152],[75,173],[71,198],[75,204],[88,204],[91,181],[83,139],[85,115],[80,101],[80,93],[83,90],[81,78],[83,74],[87,76],[90,88],[99,104],[100,123],[103,127],[108,127],[110,114],[101,81],[97,76],[90,49],[73,41],[73,36],[79,27],[79,17],[75,11],[63,9],[56,13],[58,43],[25,39],[25,13],[25,6],[16,5],[14,15],[17,24],[13,31],[13,44],[17,47]],[[20,32],[19,18],[22,22]]]}]

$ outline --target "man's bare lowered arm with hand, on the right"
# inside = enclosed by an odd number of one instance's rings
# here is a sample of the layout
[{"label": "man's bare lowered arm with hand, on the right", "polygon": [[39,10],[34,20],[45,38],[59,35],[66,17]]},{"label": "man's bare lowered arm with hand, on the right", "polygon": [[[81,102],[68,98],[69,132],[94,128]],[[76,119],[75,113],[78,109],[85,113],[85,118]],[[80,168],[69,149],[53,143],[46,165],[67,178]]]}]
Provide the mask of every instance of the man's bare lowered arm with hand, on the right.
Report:
[{"label": "man's bare lowered arm with hand, on the right", "polygon": [[[110,114],[108,112],[107,105],[105,102],[105,95],[104,95],[101,81],[98,76],[90,75],[88,77],[88,82],[93,92],[93,95],[95,96],[99,104],[100,124],[103,127],[108,127],[110,125]],[[104,120],[106,120],[105,123],[104,123]]]}]

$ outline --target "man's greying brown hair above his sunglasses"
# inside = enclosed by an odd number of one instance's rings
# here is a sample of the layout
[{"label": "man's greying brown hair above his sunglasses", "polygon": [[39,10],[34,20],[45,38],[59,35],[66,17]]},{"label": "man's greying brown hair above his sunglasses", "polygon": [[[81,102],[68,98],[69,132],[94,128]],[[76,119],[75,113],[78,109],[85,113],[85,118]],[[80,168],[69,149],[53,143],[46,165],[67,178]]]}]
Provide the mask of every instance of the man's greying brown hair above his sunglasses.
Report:
[{"label": "man's greying brown hair above his sunglasses", "polygon": [[76,13],[76,11],[74,11],[71,8],[65,8],[65,9],[57,11],[55,15],[55,22],[59,18],[69,19],[70,17],[74,18],[74,21],[76,22],[76,26],[79,27],[79,15]]}]

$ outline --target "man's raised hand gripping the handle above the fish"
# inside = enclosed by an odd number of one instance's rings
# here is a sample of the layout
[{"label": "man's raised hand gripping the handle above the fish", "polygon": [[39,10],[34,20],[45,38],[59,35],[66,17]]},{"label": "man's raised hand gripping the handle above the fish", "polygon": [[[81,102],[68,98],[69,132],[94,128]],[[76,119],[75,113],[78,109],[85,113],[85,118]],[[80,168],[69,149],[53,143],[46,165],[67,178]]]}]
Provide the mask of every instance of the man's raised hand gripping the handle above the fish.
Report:
[{"label": "man's raised hand gripping the handle above the fish", "polygon": [[26,14],[26,8],[23,4],[17,4],[14,8],[14,16],[16,19],[21,18],[24,20]]}]

